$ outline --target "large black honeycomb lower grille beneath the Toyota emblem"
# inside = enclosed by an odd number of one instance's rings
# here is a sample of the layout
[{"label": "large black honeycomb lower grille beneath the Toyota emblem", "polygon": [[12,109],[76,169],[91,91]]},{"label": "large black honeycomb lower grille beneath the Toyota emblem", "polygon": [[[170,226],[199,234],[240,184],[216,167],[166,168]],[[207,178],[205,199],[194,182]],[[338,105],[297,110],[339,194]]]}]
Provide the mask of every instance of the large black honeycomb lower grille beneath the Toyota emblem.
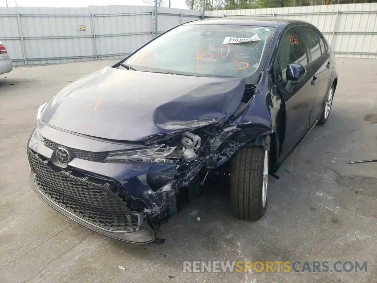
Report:
[{"label": "large black honeycomb lower grille beneath the Toyota emblem", "polygon": [[[65,173],[55,173],[47,165],[49,160],[42,162],[30,150],[29,157],[34,168],[37,188],[56,205],[100,228],[132,231],[130,221],[134,229],[138,228],[138,218],[131,215],[100,186],[90,185]],[[90,180],[93,179],[96,178],[90,177]],[[97,181],[110,183],[102,179]],[[114,183],[112,185],[116,188]]]}]

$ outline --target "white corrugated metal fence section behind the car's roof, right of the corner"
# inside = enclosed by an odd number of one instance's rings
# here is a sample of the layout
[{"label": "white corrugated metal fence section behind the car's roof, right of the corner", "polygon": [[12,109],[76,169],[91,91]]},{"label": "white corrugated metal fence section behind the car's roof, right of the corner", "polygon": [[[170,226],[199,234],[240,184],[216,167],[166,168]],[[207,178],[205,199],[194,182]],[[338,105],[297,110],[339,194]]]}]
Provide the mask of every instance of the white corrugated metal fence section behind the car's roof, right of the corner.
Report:
[{"label": "white corrugated metal fence section behind the car's roof, right of the corner", "polygon": [[224,15],[303,20],[322,31],[336,56],[377,58],[377,3],[205,11],[206,18]]}]

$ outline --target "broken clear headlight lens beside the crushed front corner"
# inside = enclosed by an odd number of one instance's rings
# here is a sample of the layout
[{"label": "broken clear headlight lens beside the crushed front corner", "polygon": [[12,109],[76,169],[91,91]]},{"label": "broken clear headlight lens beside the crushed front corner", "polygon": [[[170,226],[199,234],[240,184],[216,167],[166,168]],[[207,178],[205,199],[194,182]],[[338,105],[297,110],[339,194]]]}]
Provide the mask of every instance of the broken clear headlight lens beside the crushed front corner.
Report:
[{"label": "broken clear headlight lens beside the crushed front corner", "polygon": [[[117,151],[107,154],[106,161],[152,161],[158,158],[174,157],[174,147],[163,148],[164,145],[152,146],[148,148],[141,148],[136,150]],[[173,154],[174,155],[174,154]]]}]

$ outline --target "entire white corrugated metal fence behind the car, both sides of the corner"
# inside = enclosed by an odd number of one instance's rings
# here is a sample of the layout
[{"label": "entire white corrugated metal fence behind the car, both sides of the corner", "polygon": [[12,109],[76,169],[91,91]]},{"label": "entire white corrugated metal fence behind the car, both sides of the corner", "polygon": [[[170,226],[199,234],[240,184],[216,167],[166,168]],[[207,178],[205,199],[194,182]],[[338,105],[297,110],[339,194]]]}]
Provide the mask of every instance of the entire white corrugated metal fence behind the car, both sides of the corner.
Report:
[{"label": "entire white corrugated metal fence behind the car, both sides of the corner", "polygon": [[[377,58],[377,3],[205,11],[206,18],[270,16],[317,26],[337,56]],[[158,33],[202,11],[158,8]],[[0,40],[15,65],[119,58],[155,35],[153,6],[0,8]]]}]

